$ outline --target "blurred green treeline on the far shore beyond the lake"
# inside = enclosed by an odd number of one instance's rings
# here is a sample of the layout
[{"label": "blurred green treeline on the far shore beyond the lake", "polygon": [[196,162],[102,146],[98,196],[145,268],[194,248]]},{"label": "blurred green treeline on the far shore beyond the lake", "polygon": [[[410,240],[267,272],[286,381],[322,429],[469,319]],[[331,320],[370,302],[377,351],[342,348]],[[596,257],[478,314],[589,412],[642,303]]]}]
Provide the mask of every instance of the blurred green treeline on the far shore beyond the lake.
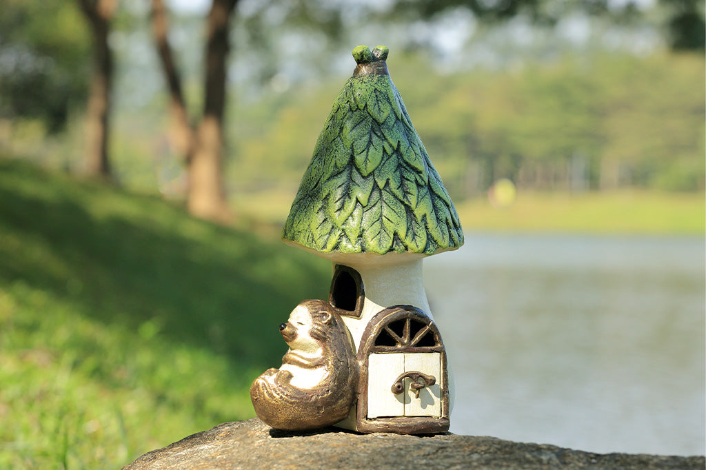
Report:
[{"label": "blurred green treeline on the far shore beyond the lake", "polygon": [[[704,188],[700,56],[604,53],[453,74],[410,56],[390,56],[388,66],[455,198],[503,177],[542,191]],[[296,186],[342,84],[234,109],[232,188]]]}]

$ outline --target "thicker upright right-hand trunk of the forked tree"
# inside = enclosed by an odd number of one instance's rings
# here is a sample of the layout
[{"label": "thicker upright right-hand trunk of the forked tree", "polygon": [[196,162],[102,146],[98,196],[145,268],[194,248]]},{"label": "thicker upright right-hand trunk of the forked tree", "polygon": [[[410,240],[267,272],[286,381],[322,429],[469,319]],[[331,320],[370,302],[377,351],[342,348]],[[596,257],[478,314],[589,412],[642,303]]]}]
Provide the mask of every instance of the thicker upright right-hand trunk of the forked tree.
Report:
[{"label": "thicker upright right-hand trunk of the forked tree", "polygon": [[228,26],[237,0],[213,0],[208,13],[203,117],[189,162],[189,212],[198,217],[228,217],[223,183],[223,110],[225,108]]}]

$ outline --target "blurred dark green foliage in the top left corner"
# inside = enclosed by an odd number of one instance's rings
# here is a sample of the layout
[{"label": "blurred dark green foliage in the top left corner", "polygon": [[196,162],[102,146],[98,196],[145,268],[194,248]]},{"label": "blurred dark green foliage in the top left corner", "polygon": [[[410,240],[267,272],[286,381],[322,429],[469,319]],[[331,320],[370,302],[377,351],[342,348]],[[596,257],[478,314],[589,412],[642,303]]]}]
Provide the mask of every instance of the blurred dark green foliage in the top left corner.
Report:
[{"label": "blurred dark green foliage in the top left corner", "polygon": [[74,4],[0,2],[0,119],[40,119],[61,131],[85,100],[88,31]]}]

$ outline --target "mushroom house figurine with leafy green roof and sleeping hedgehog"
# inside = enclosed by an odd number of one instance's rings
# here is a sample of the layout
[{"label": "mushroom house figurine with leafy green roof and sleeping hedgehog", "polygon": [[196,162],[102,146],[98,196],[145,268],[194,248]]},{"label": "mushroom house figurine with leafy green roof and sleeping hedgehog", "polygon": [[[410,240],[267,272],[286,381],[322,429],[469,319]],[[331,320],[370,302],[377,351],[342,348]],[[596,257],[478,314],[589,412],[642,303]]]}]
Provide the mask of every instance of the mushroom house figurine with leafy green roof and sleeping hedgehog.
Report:
[{"label": "mushroom house figurine with leafy green roof and sleeping hedgehog", "polygon": [[390,80],[388,48],[353,57],[282,233],[333,263],[329,298],[280,325],[289,351],[251,399],[275,428],[442,433],[451,391],[422,261],[459,248],[463,233]]}]

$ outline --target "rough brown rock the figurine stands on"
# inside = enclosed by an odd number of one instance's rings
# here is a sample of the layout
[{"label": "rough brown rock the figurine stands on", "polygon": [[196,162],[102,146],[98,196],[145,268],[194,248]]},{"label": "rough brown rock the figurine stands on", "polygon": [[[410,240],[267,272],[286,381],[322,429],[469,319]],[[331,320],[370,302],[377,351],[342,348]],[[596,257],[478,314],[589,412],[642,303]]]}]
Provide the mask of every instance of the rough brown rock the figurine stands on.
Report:
[{"label": "rough brown rock the figurine stands on", "polygon": [[152,450],[124,470],[157,469],[704,469],[704,457],[593,454],[455,435],[275,430],[258,418],[223,423]]}]

